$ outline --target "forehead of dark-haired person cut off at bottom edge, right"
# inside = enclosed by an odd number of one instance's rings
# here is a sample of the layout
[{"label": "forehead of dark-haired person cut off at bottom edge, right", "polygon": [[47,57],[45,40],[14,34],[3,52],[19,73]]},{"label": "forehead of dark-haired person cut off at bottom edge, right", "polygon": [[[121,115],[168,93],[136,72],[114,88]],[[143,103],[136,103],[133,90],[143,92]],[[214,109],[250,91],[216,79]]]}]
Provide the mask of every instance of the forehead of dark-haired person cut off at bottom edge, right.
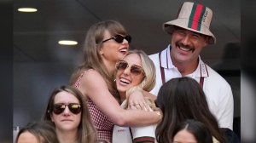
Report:
[{"label": "forehead of dark-haired person cut off at bottom edge, right", "polygon": [[183,129],[173,137],[173,143],[197,143],[194,134],[189,133]]}]

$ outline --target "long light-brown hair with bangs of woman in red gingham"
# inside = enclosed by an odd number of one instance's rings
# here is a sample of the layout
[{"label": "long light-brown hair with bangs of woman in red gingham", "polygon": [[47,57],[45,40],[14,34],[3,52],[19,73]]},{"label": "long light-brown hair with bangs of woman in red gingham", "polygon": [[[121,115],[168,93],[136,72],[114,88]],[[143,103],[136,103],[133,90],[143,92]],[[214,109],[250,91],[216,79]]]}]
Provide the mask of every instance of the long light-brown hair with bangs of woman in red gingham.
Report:
[{"label": "long light-brown hair with bangs of woman in red gingham", "polygon": [[126,35],[125,27],[115,20],[105,20],[91,26],[87,32],[83,46],[84,60],[77,70],[73,72],[70,84],[74,85],[79,75],[85,70],[94,69],[105,79],[108,90],[113,94],[113,97],[119,100],[119,94],[114,89],[113,77],[108,73],[108,69],[104,65],[102,56],[99,53],[102,48],[102,40],[106,30],[109,31],[111,35],[115,35],[116,33]]}]

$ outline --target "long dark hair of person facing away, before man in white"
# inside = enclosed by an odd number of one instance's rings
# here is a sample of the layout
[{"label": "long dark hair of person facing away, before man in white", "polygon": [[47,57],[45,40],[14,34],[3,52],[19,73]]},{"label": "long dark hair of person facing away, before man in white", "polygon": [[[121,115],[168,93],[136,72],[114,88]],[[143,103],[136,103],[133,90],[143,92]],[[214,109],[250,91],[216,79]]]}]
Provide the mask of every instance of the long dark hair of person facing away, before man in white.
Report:
[{"label": "long dark hair of person facing away, before man in white", "polygon": [[163,112],[163,118],[155,129],[158,142],[172,142],[173,129],[186,119],[204,123],[212,136],[220,143],[225,142],[218,121],[209,110],[207,97],[195,79],[177,77],[164,83],[156,104]]}]

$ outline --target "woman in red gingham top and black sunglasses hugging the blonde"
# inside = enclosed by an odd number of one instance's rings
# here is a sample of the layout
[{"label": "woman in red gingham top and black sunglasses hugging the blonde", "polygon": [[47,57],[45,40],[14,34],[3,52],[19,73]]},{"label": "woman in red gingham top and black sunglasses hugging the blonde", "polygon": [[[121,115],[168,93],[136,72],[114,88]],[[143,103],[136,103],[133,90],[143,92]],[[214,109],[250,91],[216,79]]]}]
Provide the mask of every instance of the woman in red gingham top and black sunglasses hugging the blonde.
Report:
[{"label": "woman in red gingham top and black sunglasses hugging the blonde", "polygon": [[110,142],[113,124],[142,126],[161,118],[159,112],[126,111],[119,106],[113,72],[116,61],[125,57],[129,43],[131,36],[118,21],[106,20],[91,26],[83,46],[83,63],[71,77],[71,85],[86,98],[99,138]]}]

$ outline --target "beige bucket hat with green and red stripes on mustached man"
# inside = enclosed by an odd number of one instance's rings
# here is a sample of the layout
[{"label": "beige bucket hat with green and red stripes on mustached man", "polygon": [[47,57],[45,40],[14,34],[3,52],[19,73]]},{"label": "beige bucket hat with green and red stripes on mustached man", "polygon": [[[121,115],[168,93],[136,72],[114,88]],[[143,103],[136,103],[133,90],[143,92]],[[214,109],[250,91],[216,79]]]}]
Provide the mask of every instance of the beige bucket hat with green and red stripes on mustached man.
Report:
[{"label": "beige bucket hat with green and red stripes on mustached man", "polygon": [[209,44],[216,43],[216,37],[210,31],[212,10],[200,3],[185,2],[181,5],[177,19],[163,24],[164,31],[172,33],[173,26],[195,31],[211,37]]}]

